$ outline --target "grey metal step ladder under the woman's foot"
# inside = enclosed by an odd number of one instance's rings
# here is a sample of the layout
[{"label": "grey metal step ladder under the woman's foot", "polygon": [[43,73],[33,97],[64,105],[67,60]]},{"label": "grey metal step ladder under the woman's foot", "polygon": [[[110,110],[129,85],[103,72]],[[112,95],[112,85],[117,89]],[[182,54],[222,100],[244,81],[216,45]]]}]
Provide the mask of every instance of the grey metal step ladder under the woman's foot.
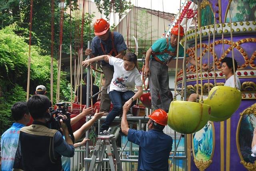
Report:
[{"label": "grey metal step ladder under the woman's foot", "polygon": [[[114,156],[111,151],[111,145],[113,147]],[[100,150],[101,147],[101,150]],[[107,148],[107,154],[110,164],[111,171],[115,171],[115,164],[117,165],[118,171],[122,171],[122,164],[120,162],[118,150],[116,147],[116,138],[97,138],[96,147],[94,150],[94,153],[92,155],[92,161],[90,163],[89,171],[93,171],[94,165],[97,164],[96,171],[100,171],[100,167],[103,162],[103,157],[105,153],[105,149]],[[97,159],[98,152],[100,151],[100,156]],[[115,157],[115,159],[114,159]],[[97,161],[96,161],[97,160]]]}]

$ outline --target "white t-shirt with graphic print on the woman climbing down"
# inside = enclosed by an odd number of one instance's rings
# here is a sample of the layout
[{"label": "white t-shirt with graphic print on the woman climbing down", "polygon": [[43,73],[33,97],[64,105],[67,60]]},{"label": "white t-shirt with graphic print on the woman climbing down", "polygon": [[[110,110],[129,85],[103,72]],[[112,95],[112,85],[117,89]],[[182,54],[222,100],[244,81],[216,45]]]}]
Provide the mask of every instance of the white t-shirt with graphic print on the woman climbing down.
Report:
[{"label": "white t-shirt with graphic print on the woman climbing down", "polygon": [[124,61],[116,57],[110,57],[109,64],[114,66],[114,75],[110,83],[109,92],[113,90],[121,92],[134,91],[135,86],[142,86],[140,73],[136,67],[131,71],[126,71],[124,69]]}]

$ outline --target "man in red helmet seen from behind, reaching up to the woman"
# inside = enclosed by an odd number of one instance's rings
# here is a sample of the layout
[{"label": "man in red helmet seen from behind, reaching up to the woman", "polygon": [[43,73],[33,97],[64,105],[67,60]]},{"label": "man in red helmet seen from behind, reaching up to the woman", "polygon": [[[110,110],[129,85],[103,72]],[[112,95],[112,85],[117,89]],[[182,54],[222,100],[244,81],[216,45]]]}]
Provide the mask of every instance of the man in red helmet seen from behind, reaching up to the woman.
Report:
[{"label": "man in red helmet seen from behind, reaching up to the woman", "polygon": [[129,129],[126,114],[129,106],[123,106],[122,132],[128,140],[140,146],[138,171],[168,171],[168,159],[172,151],[172,138],[164,134],[167,113],[158,109],[148,117],[148,131]]}]

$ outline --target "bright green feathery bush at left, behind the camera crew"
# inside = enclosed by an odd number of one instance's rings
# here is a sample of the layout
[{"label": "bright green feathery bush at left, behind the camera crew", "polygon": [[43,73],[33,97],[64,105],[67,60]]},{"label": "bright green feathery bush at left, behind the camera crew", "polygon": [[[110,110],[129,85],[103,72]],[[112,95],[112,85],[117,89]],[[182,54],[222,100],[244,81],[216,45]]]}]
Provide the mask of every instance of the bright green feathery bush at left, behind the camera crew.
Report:
[{"label": "bright green feathery bush at left, behind the camera crew", "polygon": [[[14,33],[16,25],[0,30],[0,115],[5,126],[10,124],[10,107],[17,101],[26,100],[28,73],[28,44],[24,37]],[[37,46],[31,47],[30,94],[37,85],[45,85],[50,92],[51,57],[41,55]],[[54,94],[57,84],[57,62],[54,59]],[[61,72],[60,88],[66,88],[66,73]],[[50,93],[48,93],[48,96]],[[61,95],[62,97],[63,95]],[[55,101],[55,96],[54,96]],[[4,119],[5,118],[5,119]]]}]

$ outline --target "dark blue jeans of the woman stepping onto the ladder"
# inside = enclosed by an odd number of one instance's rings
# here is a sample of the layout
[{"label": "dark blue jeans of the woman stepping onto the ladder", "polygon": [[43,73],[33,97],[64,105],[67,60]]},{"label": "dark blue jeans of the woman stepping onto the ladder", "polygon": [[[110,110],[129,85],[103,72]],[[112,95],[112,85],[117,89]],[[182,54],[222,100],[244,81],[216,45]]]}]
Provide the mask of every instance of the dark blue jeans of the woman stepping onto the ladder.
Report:
[{"label": "dark blue jeans of the woman stepping onto the ladder", "polygon": [[[108,130],[108,128],[109,128],[111,122],[114,120],[114,118],[116,118],[116,116],[120,115],[120,112],[122,112],[122,106],[123,106],[122,102],[125,103],[127,100],[132,98],[132,96],[134,96],[134,94],[135,93],[133,91],[120,92],[120,91],[113,90],[113,91],[109,92],[109,98],[110,98],[111,102],[113,103],[113,109],[106,117],[106,120],[102,124],[100,131]],[[132,102],[131,107],[134,104],[136,104],[136,100],[134,102]]]}]

